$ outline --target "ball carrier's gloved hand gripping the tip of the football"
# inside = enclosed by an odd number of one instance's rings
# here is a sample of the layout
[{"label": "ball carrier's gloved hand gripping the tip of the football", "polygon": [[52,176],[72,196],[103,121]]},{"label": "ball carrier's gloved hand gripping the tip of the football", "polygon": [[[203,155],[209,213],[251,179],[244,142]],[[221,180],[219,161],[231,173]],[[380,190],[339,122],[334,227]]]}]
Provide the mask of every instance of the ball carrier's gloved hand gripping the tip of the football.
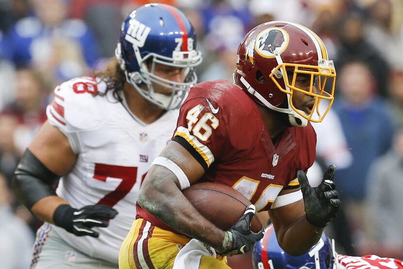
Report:
[{"label": "ball carrier's gloved hand gripping the tip of the football", "polygon": [[263,238],[264,228],[256,234],[251,231],[251,222],[255,213],[255,206],[249,205],[242,217],[224,232],[224,241],[221,248],[217,250],[220,254],[233,256],[250,252],[254,243]]}]

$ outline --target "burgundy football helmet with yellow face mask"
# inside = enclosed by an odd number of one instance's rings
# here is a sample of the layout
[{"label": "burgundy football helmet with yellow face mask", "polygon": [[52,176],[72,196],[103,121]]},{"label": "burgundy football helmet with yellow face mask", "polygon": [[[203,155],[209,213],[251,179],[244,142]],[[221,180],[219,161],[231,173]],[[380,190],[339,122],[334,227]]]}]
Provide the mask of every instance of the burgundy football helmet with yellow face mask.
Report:
[{"label": "burgundy football helmet with yellow face mask", "polygon": [[[295,86],[299,74],[311,78],[309,90]],[[234,73],[235,84],[252,95],[254,101],[288,114],[294,126],[308,120],[320,122],[334,100],[336,70],[317,34],[292,22],[271,21],[253,28],[239,45]],[[316,90],[315,90],[316,87]],[[315,98],[311,113],[292,103],[295,91]],[[319,103],[328,100],[319,111]]]}]

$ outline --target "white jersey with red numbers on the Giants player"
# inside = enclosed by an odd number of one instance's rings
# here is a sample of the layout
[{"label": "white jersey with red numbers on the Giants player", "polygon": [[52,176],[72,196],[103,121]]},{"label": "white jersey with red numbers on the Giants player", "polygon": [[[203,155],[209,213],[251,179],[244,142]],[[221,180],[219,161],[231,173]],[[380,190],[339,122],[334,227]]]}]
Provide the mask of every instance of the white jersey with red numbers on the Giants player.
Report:
[{"label": "white jersey with red numbers on the Giants player", "polygon": [[47,107],[48,121],[66,134],[77,153],[74,168],[63,176],[56,193],[74,208],[106,204],[118,210],[108,228],[94,228],[99,238],[78,237],[63,228],[53,229],[72,247],[87,255],[118,263],[120,245],[135,217],[140,184],[170,141],[178,110],[167,111],[151,124],[144,124],[112,92],[94,78],[76,78],[55,89]]}]

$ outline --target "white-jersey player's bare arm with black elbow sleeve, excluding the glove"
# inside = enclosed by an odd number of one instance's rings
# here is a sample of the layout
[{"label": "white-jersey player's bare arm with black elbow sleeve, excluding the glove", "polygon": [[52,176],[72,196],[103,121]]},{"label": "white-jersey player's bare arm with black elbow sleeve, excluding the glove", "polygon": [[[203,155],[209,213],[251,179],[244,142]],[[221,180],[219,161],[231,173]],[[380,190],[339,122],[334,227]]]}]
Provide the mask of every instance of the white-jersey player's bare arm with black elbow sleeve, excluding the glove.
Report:
[{"label": "white-jersey player's bare arm with black elbow sleeve, excluding the glove", "polygon": [[67,137],[48,122],[35,135],[14,174],[17,198],[43,221],[53,223],[53,213],[67,202],[53,189],[61,175],[73,168],[76,154]]}]

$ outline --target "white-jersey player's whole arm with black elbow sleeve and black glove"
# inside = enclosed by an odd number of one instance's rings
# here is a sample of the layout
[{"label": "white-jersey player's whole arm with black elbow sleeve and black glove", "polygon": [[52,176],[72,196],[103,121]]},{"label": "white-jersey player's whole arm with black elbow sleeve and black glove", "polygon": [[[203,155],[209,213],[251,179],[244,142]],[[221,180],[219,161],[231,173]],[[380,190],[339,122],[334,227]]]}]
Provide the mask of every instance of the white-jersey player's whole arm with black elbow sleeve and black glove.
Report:
[{"label": "white-jersey player's whole arm with black elbow sleeve and black glove", "polygon": [[[114,218],[116,210],[100,205],[78,210],[57,196],[53,189],[60,176],[74,167],[76,160],[77,155],[71,149],[67,136],[45,122],[17,166],[13,179],[14,193],[39,219],[76,235],[97,237],[98,233],[88,228],[106,227],[107,223],[102,218]],[[76,214],[77,211],[83,212]],[[92,221],[84,223],[77,221],[78,218]]]}]

